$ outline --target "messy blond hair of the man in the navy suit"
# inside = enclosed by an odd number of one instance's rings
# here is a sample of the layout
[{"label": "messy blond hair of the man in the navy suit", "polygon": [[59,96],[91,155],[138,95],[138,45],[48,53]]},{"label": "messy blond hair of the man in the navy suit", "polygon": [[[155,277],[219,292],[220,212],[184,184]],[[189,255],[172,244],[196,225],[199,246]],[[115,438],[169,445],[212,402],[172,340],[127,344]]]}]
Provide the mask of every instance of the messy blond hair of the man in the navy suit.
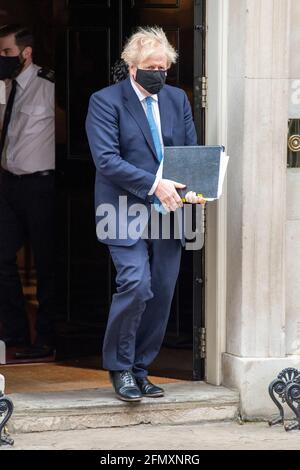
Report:
[{"label": "messy blond hair of the man in the navy suit", "polygon": [[166,55],[168,68],[176,62],[178,54],[161,28],[139,27],[128,39],[121,57],[127,65],[137,66],[158,50]]}]

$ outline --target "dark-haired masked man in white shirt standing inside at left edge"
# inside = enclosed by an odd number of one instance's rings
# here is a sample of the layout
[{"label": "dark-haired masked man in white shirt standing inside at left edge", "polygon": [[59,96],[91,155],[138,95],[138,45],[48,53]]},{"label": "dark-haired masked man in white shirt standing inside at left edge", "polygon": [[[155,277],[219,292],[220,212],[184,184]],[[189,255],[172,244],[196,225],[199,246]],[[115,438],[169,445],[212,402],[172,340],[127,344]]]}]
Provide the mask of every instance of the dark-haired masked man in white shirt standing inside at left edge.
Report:
[{"label": "dark-haired masked man in white shirt standing inside at left edge", "polygon": [[[26,345],[19,358],[54,348],[54,73],[33,63],[32,33],[20,25],[0,28],[0,339]],[[29,240],[37,273],[37,338],[28,322],[16,254]],[[27,343],[27,344],[26,344]]]}]

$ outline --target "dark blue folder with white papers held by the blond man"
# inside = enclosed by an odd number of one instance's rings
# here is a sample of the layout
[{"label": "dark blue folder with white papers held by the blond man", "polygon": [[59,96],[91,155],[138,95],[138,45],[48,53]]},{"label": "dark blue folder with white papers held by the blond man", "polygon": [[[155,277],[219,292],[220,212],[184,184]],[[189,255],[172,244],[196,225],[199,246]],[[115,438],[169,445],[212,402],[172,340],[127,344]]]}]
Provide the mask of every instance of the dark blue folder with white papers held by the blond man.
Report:
[{"label": "dark blue folder with white papers held by the blond man", "polygon": [[186,184],[178,191],[181,197],[194,191],[204,198],[217,199],[224,179],[222,156],[223,146],[165,147],[162,177]]}]

